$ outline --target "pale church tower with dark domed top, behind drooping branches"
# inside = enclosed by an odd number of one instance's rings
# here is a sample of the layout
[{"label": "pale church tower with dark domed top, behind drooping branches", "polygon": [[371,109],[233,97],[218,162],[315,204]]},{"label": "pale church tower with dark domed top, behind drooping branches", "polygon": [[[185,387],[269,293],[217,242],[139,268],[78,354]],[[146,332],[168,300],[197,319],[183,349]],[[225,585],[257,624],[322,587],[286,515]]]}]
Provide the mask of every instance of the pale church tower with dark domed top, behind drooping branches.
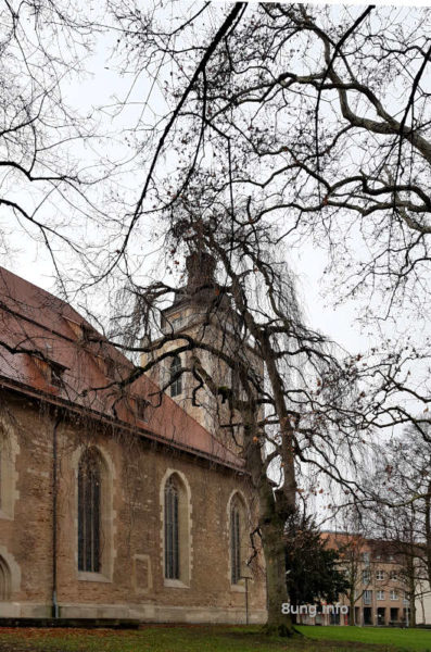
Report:
[{"label": "pale church tower with dark domed top, behind drooping branches", "polygon": [[[216,281],[216,262],[211,253],[194,250],[186,260],[187,283],[175,292],[175,298],[162,313],[161,329],[164,335],[175,335],[172,341],[165,342],[157,353],[175,351],[187,344],[180,336],[188,335],[197,342],[193,350],[185,350],[173,354],[154,367],[152,379],[166,387],[166,392],[181,408],[210,430],[224,446],[237,454],[241,453],[242,431],[238,414],[229,410],[223,397],[216,398],[211,390],[200,384],[191,371],[192,359],[198,358],[200,364],[218,388],[234,388],[238,384],[232,362],[243,358],[244,347],[248,359],[256,374],[263,375],[262,361],[252,347],[241,341],[240,321],[232,310],[231,302],[224,289]],[[202,347],[200,346],[202,343]],[[214,353],[206,350],[210,346]],[[221,352],[230,362],[217,356]],[[148,355],[142,355],[142,364]]]}]

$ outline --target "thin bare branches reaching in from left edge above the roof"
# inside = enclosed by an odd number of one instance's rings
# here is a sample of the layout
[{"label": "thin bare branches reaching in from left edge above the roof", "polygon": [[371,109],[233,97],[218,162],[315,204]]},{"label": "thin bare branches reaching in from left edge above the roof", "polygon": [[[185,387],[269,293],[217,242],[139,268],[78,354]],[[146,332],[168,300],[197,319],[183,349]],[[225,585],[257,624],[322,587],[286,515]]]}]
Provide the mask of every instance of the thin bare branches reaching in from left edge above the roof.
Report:
[{"label": "thin bare branches reaching in from left edge above the roof", "polygon": [[96,188],[113,166],[91,150],[96,111],[79,97],[98,27],[63,0],[4,2],[0,18],[0,253],[41,251],[64,290],[71,263],[97,276],[90,234],[112,235]]}]

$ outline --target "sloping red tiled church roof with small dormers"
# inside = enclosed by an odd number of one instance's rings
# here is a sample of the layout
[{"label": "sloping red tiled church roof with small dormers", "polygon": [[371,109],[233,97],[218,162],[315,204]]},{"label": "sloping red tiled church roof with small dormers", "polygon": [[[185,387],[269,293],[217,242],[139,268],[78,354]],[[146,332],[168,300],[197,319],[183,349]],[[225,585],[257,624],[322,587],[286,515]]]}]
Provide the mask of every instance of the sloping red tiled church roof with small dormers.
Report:
[{"label": "sloping red tiled church roof with small dormers", "polygon": [[0,267],[0,387],[241,469],[68,303]]}]

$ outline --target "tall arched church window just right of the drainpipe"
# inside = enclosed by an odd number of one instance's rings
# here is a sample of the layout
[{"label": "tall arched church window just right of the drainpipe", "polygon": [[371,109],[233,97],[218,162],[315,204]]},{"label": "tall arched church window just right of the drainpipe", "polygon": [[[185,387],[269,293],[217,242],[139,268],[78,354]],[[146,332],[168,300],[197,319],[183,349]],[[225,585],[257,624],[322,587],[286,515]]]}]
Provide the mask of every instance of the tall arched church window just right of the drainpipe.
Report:
[{"label": "tall arched church window just right of the drainpipe", "polygon": [[78,570],[100,572],[101,468],[98,453],[86,451],[78,468]]}]

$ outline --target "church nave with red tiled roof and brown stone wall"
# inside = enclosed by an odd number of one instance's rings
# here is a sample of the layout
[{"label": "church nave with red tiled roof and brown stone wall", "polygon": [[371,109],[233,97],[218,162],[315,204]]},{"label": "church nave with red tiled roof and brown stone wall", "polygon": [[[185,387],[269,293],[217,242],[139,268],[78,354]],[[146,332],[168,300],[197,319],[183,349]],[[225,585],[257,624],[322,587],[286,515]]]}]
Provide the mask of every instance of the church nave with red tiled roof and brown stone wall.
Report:
[{"label": "church nave with red tiled roof and brown stone wall", "polygon": [[[192,306],[179,293],[164,318],[197,329]],[[187,380],[162,392],[132,372],[69,304],[0,268],[0,618],[264,623],[241,455]]]}]

